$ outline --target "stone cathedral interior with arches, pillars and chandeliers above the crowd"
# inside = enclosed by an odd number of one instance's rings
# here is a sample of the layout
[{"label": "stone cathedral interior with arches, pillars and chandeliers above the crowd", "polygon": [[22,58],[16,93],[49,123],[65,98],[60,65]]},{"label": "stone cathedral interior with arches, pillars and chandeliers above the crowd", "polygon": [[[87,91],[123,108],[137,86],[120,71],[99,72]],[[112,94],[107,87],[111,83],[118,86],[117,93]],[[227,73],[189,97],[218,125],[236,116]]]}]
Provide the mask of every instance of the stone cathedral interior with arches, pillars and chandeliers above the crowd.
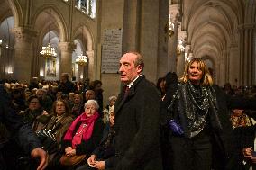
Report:
[{"label": "stone cathedral interior with arches, pillars and chandeliers above the crowd", "polygon": [[[1,0],[0,78],[99,79],[119,93],[119,59],[156,82],[206,61],[215,84],[256,85],[256,0]],[[43,50],[43,49],[48,49]],[[47,55],[50,52],[51,55]]]}]

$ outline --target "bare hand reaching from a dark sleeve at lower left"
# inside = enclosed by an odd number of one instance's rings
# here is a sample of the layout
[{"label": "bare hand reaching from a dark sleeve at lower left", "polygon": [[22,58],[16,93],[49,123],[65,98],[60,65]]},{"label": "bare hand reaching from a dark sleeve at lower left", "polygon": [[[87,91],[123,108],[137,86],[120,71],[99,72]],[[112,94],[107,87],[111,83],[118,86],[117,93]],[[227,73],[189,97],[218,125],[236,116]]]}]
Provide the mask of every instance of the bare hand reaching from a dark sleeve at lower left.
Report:
[{"label": "bare hand reaching from a dark sleeve at lower left", "polygon": [[37,167],[37,170],[43,170],[48,165],[48,154],[41,148],[34,148],[31,152],[32,158],[40,158],[40,165]]}]

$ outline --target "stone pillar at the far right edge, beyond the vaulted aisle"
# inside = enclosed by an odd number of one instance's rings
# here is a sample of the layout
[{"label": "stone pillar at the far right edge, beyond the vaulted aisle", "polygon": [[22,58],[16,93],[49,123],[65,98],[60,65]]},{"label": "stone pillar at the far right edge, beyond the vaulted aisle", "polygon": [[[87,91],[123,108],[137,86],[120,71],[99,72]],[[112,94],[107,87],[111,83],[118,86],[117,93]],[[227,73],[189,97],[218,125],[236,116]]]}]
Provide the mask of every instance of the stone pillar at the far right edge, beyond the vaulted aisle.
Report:
[{"label": "stone pillar at the far right edge, beyond the vaulted aisle", "polygon": [[255,80],[255,57],[253,56],[253,24],[239,25],[240,76],[239,85],[253,85]]}]

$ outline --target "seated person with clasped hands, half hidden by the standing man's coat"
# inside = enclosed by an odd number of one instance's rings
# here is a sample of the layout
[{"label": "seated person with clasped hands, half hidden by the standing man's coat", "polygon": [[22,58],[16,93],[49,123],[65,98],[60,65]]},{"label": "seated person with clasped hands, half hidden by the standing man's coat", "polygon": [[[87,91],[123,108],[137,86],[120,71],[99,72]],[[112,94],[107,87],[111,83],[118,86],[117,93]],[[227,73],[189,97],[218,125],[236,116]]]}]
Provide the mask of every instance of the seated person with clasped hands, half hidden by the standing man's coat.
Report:
[{"label": "seated person with clasped hands, half hidden by the standing man's coat", "polygon": [[114,167],[114,105],[109,108],[109,121],[105,125],[100,145],[87,159],[88,165],[76,170],[108,169]]}]

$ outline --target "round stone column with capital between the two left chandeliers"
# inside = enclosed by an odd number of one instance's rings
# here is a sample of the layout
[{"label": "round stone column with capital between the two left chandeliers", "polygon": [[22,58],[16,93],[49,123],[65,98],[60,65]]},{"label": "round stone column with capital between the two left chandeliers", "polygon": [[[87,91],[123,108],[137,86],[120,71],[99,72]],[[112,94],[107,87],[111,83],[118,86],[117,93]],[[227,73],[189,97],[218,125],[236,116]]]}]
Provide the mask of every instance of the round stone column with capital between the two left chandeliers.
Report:
[{"label": "round stone column with capital between the two left chandeliers", "polygon": [[76,46],[72,42],[59,42],[59,75],[61,73],[68,73],[69,79],[72,78],[72,53],[75,48]]}]

